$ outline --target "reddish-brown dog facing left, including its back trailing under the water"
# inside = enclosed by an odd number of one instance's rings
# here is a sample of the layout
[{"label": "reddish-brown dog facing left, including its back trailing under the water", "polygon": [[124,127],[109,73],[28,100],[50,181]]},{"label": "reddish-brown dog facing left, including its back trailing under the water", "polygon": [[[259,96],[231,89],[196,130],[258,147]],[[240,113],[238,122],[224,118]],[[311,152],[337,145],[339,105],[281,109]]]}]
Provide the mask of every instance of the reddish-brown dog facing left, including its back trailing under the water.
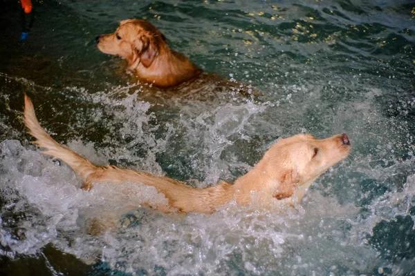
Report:
[{"label": "reddish-brown dog facing left, including its back trailing under the water", "polygon": [[218,91],[231,90],[245,96],[261,95],[261,92],[249,84],[203,72],[187,57],[170,49],[164,34],[145,20],[123,20],[115,32],[102,34],[95,41],[101,52],[126,59],[128,69],[140,81],[152,83],[158,88],[182,90],[180,85],[184,83],[189,88],[185,90],[194,92],[215,83],[215,90]]}]

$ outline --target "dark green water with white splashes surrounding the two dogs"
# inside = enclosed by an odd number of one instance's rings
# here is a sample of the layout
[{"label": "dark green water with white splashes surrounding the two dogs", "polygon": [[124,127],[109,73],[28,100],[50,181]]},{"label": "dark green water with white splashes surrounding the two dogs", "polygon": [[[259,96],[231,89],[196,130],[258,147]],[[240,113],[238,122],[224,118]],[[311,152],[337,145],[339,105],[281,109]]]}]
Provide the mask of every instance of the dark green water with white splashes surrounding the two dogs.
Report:
[{"label": "dark green water with white splashes surrounding the two dogs", "polygon": [[[19,6],[0,5],[2,273],[414,275],[413,1],[34,1],[23,43]],[[94,41],[127,18],[261,95],[136,83]],[[233,181],[299,132],[346,132],[353,151],[299,210],[163,215],[131,209],[164,200],[140,184],[80,190],[70,168],[30,145],[23,92],[42,126],[92,161],[198,187]],[[111,212],[122,227],[89,235]]]}]

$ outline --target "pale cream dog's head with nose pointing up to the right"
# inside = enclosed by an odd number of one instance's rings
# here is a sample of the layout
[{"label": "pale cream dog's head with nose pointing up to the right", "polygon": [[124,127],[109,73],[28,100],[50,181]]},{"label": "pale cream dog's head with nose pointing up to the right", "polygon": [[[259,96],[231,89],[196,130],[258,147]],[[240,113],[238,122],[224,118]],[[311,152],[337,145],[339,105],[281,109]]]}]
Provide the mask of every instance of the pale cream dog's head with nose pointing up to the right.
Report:
[{"label": "pale cream dog's head with nose pointing up to the right", "polygon": [[284,199],[295,188],[311,184],[324,171],[349,155],[351,144],[345,134],[326,139],[295,135],[277,141],[255,166],[255,177],[273,197]]}]

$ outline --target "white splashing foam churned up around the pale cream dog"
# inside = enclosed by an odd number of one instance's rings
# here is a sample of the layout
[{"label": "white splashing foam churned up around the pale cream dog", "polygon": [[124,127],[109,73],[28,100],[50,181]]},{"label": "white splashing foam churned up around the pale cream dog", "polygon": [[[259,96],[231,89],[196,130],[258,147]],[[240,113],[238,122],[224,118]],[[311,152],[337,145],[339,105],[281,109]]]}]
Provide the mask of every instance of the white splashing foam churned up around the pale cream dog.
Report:
[{"label": "white splashing foam churned up around the pale cream dog", "polygon": [[[170,119],[173,112],[152,114],[149,103],[138,100],[136,93],[127,95],[122,87],[117,90],[125,93],[121,99],[105,92],[88,95],[77,88],[73,91],[96,105],[93,114],[84,120],[107,124],[109,133],[102,142],[109,145],[102,147],[75,139],[66,146],[98,164],[112,160],[156,175],[165,173],[158,164],[158,155],[167,152],[175,159],[183,158],[183,163],[188,163],[183,168],[190,170],[190,175],[201,176],[199,180],[203,181],[193,182],[201,188],[218,179],[234,179],[230,168],[250,168],[237,157],[223,159],[236,139],[250,141],[264,132],[276,137],[284,124],[293,123],[290,118],[288,123],[279,122],[278,112],[288,114],[295,97],[319,92],[314,88],[286,87],[284,93],[292,96],[287,99],[282,95],[286,100],[279,106],[252,101],[215,106],[190,101],[182,106],[177,117]],[[308,99],[313,101],[315,95]],[[364,126],[358,124],[353,110],[367,109],[372,100],[369,97],[360,103],[340,105],[351,110],[344,116],[349,124],[356,125],[351,135],[356,145],[367,140],[360,131]],[[304,110],[296,109],[295,116],[304,115]],[[376,124],[382,124],[382,129],[393,123],[382,123],[384,118],[378,110],[366,110],[363,114],[376,117]],[[160,124],[150,123],[156,116],[165,117]],[[342,120],[331,113],[316,116],[331,119],[327,128],[341,126]],[[163,128],[163,134],[156,135],[159,128]],[[388,135],[387,139],[393,134]],[[259,144],[258,151],[264,152],[267,146]],[[376,156],[358,152],[326,172],[308,191],[300,210],[279,210],[277,206],[272,210],[252,210],[230,203],[212,215],[181,217],[141,206],[146,201],[166,202],[154,188],[141,184],[101,184],[90,192],[80,190],[82,181],[68,166],[42,155],[34,147],[6,140],[0,145],[1,195],[6,202],[1,213],[1,254],[35,254],[46,244],[53,244],[88,264],[100,259],[113,269],[130,273],[140,269],[156,273],[160,268],[168,275],[225,275],[228,271],[255,275],[369,275],[390,264],[379,259],[378,251],[367,243],[367,235],[373,234],[371,231],[380,220],[407,215],[415,195],[414,160],[393,159],[394,166],[377,166],[379,159],[392,159],[384,146]],[[138,148],[144,153],[138,153]],[[174,171],[175,166],[172,162],[169,168]],[[402,171],[408,174],[402,189],[391,188],[384,195],[373,197],[363,206],[370,214],[362,217],[358,203],[369,193],[359,193],[360,181],[388,181],[390,175]],[[107,233],[92,237],[89,226],[96,218],[116,221],[120,226],[109,227]]]}]

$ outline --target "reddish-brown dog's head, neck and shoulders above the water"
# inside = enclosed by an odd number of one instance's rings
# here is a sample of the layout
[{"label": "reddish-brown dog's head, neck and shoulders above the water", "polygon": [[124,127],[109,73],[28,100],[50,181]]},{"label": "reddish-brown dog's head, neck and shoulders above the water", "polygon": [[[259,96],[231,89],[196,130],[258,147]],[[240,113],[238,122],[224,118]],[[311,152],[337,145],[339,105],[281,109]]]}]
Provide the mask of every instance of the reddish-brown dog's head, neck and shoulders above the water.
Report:
[{"label": "reddish-brown dog's head, neck and shoulders above the water", "polygon": [[95,40],[101,52],[123,57],[129,70],[155,86],[177,86],[202,72],[187,57],[171,50],[165,36],[145,20],[121,21],[116,32],[102,34]]}]

